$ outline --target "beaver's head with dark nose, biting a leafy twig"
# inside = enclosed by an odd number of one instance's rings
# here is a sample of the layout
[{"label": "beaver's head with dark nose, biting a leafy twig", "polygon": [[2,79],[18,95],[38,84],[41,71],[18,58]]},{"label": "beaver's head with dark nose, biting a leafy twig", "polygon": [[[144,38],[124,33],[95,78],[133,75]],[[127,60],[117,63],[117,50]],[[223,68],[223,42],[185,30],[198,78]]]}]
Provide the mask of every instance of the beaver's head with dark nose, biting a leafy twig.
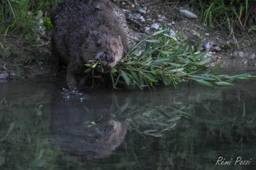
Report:
[{"label": "beaver's head with dark nose, biting a leafy twig", "polygon": [[123,50],[120,35],[107,30],[91,30],[83,47],[83,58],[86,62],[102,61],[103,66],[112,68],[122,59]]}]

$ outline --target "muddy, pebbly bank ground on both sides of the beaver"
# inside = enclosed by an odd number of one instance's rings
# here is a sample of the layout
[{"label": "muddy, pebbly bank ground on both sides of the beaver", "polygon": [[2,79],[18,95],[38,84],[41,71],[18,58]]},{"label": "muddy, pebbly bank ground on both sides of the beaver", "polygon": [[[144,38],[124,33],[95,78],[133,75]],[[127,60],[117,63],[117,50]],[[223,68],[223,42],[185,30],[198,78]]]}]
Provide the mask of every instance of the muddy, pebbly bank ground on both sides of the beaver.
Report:
[{"label": "muddy, pebbly bank ground on both sides of the beaver", "polygon": [[[156,31],[154,26],[168,25],[175,34],[186,39],[192,45],[196,42],[204,46],[207,42],[220,47],[219,50],[210,49],[206,57],[212,57],[208,66],[223,63],[222,67],[256,67],[256,32],[244,33],[235,30],[235,37],[224,27],[218,27],[211,32],[202,32],[202,21],[190,19],[179,12],[184,8],[196,14],[187,7],[167,5],[163,0],[137,0],[139,8],[128,0],[116,1],[125,12],[130,28],[141,35],[149,35]],[[47,14],[47,13],[46,13]],[[47,16],[46,16],[47,17]],[[0,79],[26,78],[35,76],[59,75],[57,60],[53,59],[50,51],[50,33],[43,27],[34,30],[37,34],[35,41],[22,35],[1,35],[2,42],[0,57]],[[238,42],[238,46],[236,46]],[[4,49],[4,50],[3,50]],[[203,49],[202,49],[203,50]]]}]

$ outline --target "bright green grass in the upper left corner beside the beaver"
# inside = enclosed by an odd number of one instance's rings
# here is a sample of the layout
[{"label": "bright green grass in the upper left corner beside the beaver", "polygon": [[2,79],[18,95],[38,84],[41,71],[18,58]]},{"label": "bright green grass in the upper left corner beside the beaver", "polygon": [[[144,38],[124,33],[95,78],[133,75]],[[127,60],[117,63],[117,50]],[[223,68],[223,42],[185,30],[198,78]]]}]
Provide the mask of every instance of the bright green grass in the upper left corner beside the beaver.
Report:
[{"label": "bright green grass in the upper left corner beside the beaver", "polygon": [[50,9],[60,0],[6,0],[0,6],[0,33],[32,34],[39,19],[47,20]]}]

